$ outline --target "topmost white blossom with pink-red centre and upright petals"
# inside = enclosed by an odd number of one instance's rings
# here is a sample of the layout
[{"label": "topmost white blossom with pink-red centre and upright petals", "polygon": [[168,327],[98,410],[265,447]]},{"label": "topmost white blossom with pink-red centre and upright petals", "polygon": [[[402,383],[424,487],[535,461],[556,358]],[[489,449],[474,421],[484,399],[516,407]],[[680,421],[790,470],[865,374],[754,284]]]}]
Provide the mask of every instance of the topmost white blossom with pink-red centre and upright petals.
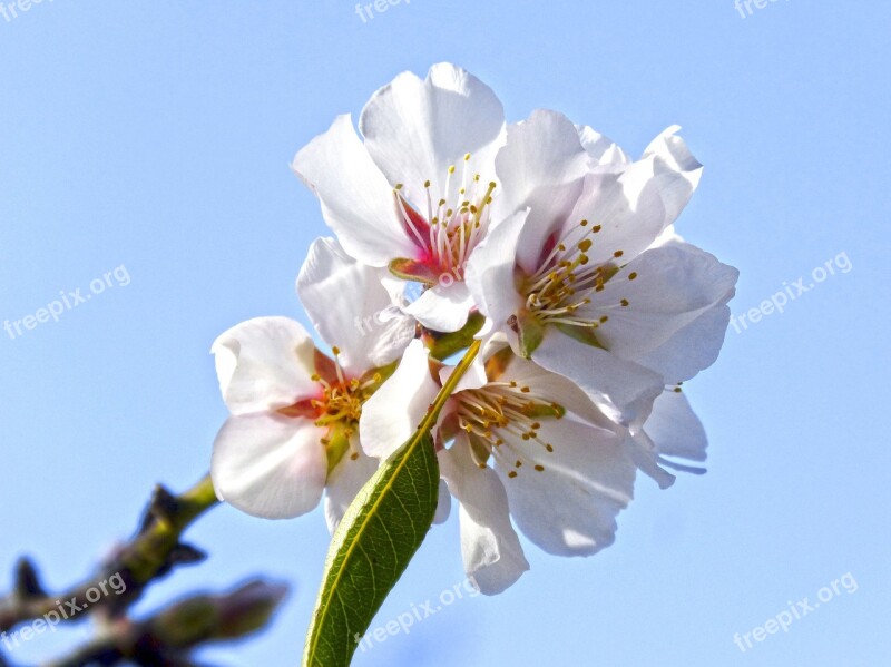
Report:
[{"label": "topmost white blossom with pink-red centre and upright petals", "polygon": [[437,65],[381,88],[297,153],[294,171],[316,194],[344,249],[427,286],[407,312],[457,331],[473,306],[464,266],[486,236],[503,109],[476,77]]}]

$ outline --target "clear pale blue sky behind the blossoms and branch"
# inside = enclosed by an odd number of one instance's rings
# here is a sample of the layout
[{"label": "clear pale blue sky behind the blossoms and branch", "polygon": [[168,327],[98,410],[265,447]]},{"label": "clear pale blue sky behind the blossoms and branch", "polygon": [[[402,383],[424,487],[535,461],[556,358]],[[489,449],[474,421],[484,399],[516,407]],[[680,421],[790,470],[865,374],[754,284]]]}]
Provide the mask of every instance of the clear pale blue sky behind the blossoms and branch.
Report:
[{"label": "clear pale blue sky behind the blossoms and branch", "polygon": [[[205,472],[226,415],[214,337],[303,317],[293,281],[325,228],[290,159],[399,71],[450,60],[509,118],[555,108],[633,154],[684,126],[706,173],[679,229],[741,269],[734,314],[844,256],[784,313],[731,328],[689,384],[707,475],[668,491],[642,479],[614,547],[567,560],[527,543],[532,570],[507,594],[456,602],[355,664],[884,664],[891,9],[751,7],[413,0],[363,23],[346,0],[43,0],[0,16],[0,321],[119,266],[130,278],[110,276],[58,323],[0,331],[0,580],[21,552],[52,587],[85,576],[155,482]],[[295,586],[274,629],[207,657],[295,665],[321,513],[267,523],[222,508],[189,538],[209,562],[140,609],[267,572]],[[745,653],[734,644],[848,572],[855,592]],[[374,625],[462,578],[453,516]],[[42,637],[19,657],[63,644]]]}]

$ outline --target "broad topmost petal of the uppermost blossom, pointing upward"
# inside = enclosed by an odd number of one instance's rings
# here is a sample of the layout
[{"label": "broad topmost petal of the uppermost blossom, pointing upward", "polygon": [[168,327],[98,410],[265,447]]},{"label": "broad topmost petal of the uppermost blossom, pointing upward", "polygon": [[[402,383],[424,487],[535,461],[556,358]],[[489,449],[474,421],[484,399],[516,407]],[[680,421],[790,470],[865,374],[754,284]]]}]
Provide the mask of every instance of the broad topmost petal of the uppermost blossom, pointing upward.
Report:
[{"label": "broad topmost petal of the uppermost blossom, pointing upward", "polygon": [[420,206],[427,202],[425,180],[434,198],[454,200],[461,178],[451,178],[447,192],[450,166],[464,169],[470,178],[481,174],[483,183],[492,180],[505,110],[474,76],[440,63],[425,80],[403,72],[381,88],[362,110],[359,126],[381,171],[391,184],[404,184],[410,200]]}]

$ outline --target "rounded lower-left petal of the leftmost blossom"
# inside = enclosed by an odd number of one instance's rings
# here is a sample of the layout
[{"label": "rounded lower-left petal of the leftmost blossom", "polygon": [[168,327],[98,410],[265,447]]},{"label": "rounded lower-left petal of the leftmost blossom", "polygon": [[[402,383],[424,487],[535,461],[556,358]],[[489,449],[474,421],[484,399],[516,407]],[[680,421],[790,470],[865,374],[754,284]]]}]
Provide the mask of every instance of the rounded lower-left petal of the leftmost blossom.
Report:
[{"label": "rounded lower-left petal of the leftmost blossom", "polygon": [[325,487],[324,433],[311,421],[233,416],[214,442],[210,477],[221,500],[264,519],[291,519],[319,504]]}]

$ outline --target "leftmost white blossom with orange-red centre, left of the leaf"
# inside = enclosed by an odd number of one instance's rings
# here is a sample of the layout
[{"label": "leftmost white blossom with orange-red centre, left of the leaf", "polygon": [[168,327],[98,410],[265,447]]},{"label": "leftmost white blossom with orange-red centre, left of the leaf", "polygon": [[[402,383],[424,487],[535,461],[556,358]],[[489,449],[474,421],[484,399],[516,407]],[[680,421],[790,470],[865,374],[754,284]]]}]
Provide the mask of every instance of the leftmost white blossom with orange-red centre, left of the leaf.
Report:
[{"label": "leftmost white blossom with orange-red centre, left of the leaf", "polygon": [[399,359],[414,322],[392,317],[366,331],[366,316],[391,305],[380,269],[356,264],[333,239],[319,239],[297,279],[300,297],[334,360],[286,317],[243,322],[213,345],[232,416],[214,442],[217,496],[270,519],[312,510],[327,485],[333,531],[376,469],[356,433],[362,405]]}]

